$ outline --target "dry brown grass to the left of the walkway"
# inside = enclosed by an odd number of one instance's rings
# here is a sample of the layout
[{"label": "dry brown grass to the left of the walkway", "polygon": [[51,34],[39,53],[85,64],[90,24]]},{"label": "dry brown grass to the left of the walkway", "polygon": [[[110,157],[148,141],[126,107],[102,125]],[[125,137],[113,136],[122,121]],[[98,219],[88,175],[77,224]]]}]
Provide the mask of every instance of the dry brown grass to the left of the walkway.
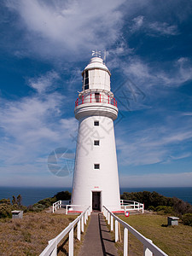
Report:
[{"label": "dry brown grass to the left of the walkway", "polygon": [[[77,216],[46,212],[25,213],[22,219],[0,219],[0,255],[39,255]],[[59,252],[58,255],[66,255]]]}]

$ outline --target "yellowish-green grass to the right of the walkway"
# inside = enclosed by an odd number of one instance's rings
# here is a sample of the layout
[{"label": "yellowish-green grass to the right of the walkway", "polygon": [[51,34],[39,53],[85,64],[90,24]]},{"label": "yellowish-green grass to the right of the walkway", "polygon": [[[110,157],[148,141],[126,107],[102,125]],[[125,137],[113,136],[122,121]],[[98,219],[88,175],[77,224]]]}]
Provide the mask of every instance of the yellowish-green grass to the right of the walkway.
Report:
[{"label": "yellowish-green grass to the right of the walkway", "polygon": [[[167,226],[167,216],[157,214],[120,216],[143,236],[152,240],[157,247],[169,256],[192,255],[192,227],[183,225]],[[123,240],[123,229],[121,230]],[[119,255],[123,255],[123,243],[118,242]],[[129,253],[143,255],[143,244],[129,232]]]}]

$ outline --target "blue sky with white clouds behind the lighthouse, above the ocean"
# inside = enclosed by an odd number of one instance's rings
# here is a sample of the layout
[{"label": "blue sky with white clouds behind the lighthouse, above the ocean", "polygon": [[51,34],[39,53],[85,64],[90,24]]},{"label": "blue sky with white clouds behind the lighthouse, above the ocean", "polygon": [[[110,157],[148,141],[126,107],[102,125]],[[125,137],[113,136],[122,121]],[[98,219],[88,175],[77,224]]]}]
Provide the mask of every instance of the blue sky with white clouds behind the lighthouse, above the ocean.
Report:
[{"label": "blue sky with white clouds behind the lighthouse, above the ocean", "polygon": [[101,49],[119,107],[120,185],[192,186],[191,13],[190,0],[2,0],[0,185],[72,185],[48,156],[75,152],[81,72]]}]

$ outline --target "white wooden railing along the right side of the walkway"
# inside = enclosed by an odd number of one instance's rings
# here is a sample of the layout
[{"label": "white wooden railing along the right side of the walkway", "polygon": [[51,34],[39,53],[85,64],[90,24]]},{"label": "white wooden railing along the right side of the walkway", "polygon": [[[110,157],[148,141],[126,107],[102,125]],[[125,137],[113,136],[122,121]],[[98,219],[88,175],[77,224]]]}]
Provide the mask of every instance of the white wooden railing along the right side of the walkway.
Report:
[{"label": "white wooden railing along the right side of the walkway", "polygon": [[125,221],[115,216],[113,212],[110,212],[108,210],[107,207],[103,206],[103,210],[103,214],[108,220],[108,224],[110,224],[111,226],[111,231],[113,231],[114,222],[115,242],[119,240],[119,224],[122,224],[124,226],[124,256],[128,255],[128,230],[133,236],[136,236],[137,239],[143,243],[144,256],[153,256],[153,253],[155,256],[167,256],[167,254],[161,251],[159,247],[154,245],[153,241],[147,239],[137,230],[133,229],[129,224],[125,223]]}]

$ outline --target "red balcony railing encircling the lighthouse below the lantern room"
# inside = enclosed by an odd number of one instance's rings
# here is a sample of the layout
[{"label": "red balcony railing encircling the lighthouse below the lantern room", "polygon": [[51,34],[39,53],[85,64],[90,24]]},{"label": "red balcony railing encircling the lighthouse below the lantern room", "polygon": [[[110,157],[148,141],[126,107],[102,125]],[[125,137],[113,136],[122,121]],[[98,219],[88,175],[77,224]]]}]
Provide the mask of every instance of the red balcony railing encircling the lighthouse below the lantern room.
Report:
[{"label": "red balcony railing encircling the lighthouse below the lantern room", "polygon": [[85,103],[94,103],[94,102],[107,103],[117,107],[117,101],[115,100],[115,98],[111,98],[110,96],[107,96],[107,95],[104,96],[101,94],[100,95],[90,94],[88,96],[82,96],[81,99],[78,98],[77,101],[75,102],[75,108]]}]

